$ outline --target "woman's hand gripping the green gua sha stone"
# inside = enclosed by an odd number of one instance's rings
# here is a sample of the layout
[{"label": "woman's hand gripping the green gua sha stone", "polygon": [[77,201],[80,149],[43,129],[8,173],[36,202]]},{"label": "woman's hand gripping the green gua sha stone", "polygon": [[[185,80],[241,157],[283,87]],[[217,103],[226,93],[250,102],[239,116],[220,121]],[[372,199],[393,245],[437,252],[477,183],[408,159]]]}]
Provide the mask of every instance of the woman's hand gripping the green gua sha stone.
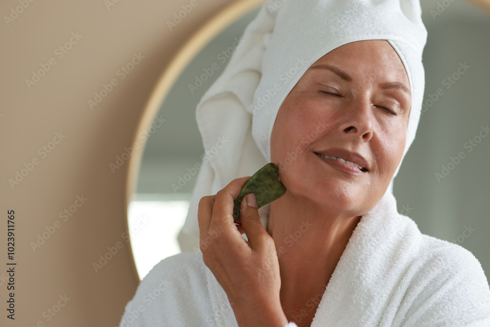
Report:
[{"label": "woman's hand gripping the green gua sha stone", "polygon": [[[199,201],[200,249],[204,263],[228,296],[239,326],[280,327],[288,321],[279,298],[279,262],[252,193],[242,200],[241,220],[236,221],[241,226],[233,219],[233,201],[248,178],[234,179],[216,195]],[[248,242],[241,235],[244,232]]]}]

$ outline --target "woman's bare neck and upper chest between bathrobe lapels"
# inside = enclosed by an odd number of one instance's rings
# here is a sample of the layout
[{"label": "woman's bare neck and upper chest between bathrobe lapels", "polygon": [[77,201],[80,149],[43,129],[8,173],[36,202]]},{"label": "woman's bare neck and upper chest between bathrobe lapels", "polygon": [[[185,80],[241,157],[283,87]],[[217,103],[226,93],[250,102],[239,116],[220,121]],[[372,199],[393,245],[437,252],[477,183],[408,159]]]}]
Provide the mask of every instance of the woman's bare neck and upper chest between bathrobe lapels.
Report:
[{"label": "woman's bare neck and upper chest between bathrobe lapels", "polygon": [[285,308],[308,311],[308,299],[314,298],[316,311],[360,219],[294,199],[288,193],[270,204],[267,231],[279,258],[280,296]]}]

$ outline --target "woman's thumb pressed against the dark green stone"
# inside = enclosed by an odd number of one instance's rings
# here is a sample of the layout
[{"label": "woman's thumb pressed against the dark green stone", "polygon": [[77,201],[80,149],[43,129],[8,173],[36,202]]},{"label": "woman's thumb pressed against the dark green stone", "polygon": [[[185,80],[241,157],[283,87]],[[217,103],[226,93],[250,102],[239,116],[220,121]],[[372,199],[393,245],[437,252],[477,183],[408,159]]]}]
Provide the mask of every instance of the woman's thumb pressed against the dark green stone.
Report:
[{"label": "woman's thumb pressed against the dark green stone", "polygon": [[245,235],[253,246],[259,245],[267,233],[266,229],[262,225],[259,216],[259,209],[257,209],[257,201],[255,194],[248,193],[242,199],[240,206],[240,220],[242,227],[245,231]]}]

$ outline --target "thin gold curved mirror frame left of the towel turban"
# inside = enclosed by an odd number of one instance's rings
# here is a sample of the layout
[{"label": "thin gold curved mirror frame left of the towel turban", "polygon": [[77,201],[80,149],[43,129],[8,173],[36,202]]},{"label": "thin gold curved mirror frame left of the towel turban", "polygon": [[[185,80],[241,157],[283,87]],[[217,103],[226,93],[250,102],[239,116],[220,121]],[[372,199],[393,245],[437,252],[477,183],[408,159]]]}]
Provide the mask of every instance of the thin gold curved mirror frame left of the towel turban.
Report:
[{"label": "thin gold curved mirror frame left of the towel turban", "polygon": [[[184,69],[191,63],[191,61],[196,58],[197,54],[199,54],[199,52],[204,49],[204,47],[206,47],[206,45],[208,45],[214,38],[216,38],[226,27],[235,23],[245,14],[249,13],[253,9],[256,9],[259,5],[262,5],[266,1],[267,0],[238,0],[230,4],[221,10],[221,12],[219,12],[217,15],[212,17],[201,28],[199,28],[188,39],[188,41],[175,52],[151,91],[151,95],[145,105],[142,115],[140,116],[140,120],[137,124],[131,144],[138,141],[137,138],[140,132],[147,130],[151,126],[153,120],[160,110],[160,106],[172,89],[173,84],[182,74]],[[144,151],[145,146],[139,147],[134,151],[128,160],[124,203],[126,218],[125,230],[129,230],[128,206],[136,189],[138,172],[143,159]],[[129,244],[130,254],[133,261],[133,269],[136,276],[139,277],[136,269],[136,263],[134,261],[131,238],[129,238]]]}]

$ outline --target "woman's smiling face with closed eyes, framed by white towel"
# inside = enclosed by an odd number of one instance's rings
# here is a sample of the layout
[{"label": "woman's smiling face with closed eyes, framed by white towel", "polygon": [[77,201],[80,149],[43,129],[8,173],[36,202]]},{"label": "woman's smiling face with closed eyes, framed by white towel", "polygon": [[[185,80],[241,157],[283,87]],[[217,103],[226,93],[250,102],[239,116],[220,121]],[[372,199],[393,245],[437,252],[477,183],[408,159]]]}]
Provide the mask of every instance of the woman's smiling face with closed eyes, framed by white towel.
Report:
[{"label": "woman's smiling face with closed eyes, framed by white towel", "polygon": [[330,51],[279,108],[271,161],[279,166],[280,180],[297,199],[352,217],[366,214],[400,163],[410,106],[408,76],[388,41],[358,41]]}]

